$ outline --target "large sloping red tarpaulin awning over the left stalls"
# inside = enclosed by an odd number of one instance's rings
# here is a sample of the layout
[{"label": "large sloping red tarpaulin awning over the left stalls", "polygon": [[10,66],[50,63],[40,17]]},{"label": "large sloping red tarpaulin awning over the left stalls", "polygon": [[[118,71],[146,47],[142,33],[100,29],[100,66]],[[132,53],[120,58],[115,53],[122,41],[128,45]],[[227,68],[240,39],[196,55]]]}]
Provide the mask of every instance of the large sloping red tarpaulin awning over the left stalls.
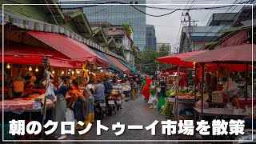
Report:
[{"label": "large sloping red tarpaulin awning over the left stalls", "polygon": [[67,57],[81,62],[97,63],[98,65],[109,66],[110,63],[100,58],[86,44],[75,41],[61,34],[29,31],[29,34],[38,38],[55,50],[58,50]]}]

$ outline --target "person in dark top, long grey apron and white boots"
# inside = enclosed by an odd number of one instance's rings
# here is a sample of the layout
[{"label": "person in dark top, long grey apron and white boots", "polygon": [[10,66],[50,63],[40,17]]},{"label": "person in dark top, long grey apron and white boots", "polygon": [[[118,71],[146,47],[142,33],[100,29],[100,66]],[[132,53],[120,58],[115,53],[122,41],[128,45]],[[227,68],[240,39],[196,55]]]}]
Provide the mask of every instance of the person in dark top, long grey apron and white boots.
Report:
[{"label": "person in dark top, long grey apron and white boots", "polygon": [[54,119],[55,122],[58,122],[57,130],[55,131],[55,138],[58,140],[66,139],[66,135],[61,135],[61,122],[65,122],[65,114],[66,114],[66,77],[62,76],[59,79],[60,85],[58,86],[58,90],[54,89],[54,94],[56,94],[56,103],[55,103],[55,111],[54,111]]}]

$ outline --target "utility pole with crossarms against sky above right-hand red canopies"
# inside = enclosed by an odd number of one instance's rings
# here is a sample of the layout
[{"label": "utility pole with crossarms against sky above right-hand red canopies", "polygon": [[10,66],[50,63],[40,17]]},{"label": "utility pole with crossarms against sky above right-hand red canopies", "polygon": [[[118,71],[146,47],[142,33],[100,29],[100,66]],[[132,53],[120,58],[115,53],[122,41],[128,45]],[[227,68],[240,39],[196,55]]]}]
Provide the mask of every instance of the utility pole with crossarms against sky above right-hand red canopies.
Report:
[{"label": "utility pole with crossarms against sky above right-hand red canopies", "polygon": [[[190,14],[189,14],[189,10],[186,11],[186,14],[182,13],[182,16],[185,17],[184,20],[182,21],[182,25],[183,26],[188,26],[188,33],[189,33],[188,51],[190,52],[190,51],[192,51],[191,33],[193,32],[193,27],[197,26],[197,24],[195,22],[198,22],[198,21],[191,20],[191,17],[190,17]],[[188,18],[188,19],[186,20],[186,18]]]}]

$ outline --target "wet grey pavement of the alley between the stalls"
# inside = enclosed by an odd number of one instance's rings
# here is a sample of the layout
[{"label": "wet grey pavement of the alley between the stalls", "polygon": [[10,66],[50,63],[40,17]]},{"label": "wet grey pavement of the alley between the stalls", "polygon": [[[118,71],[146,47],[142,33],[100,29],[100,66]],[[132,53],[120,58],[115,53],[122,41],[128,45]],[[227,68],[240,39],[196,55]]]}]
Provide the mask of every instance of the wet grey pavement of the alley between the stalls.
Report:
[{"label": "wet grey pavement of the alley between the stalls", "polygon": [[[146,130],[145,127],[149,126],[154,120],[158,120],[156,126],[156,135],[151,135],[151,130]],[[67,139],[75,140],[174,140],[177,136],[167,136],[162,134],[161,121],[166,120],[158,110],[150,109],[148,103],[141,95],[135,100],[129,100],[122,103],[122,110],[118,110],[117,114],[106,116],[102,120],[102,125],[109,127],[106,132],[102,130],[102,134],[97,136],[96,123],[91,127],[87,134],[69,135]],[[120,122],[126,125],[126,130],[122,135],[116,136],[114,132],[118,132],[120,129],[112,130],[112,124]],[[128,130],[128,125],[143,125],[143,130]]]}]

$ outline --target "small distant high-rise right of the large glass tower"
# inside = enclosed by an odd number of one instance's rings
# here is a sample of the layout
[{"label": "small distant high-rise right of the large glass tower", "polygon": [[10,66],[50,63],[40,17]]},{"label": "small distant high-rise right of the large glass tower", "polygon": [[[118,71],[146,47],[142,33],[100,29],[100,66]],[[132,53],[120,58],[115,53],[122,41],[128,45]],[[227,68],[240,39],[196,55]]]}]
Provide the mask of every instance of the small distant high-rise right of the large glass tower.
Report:
[{"label": "small distant high-rise right of the large glass tower", "polygon": [[146,46],[157,50],[157,38],[155,37],[153,25],[146,25]]}]

